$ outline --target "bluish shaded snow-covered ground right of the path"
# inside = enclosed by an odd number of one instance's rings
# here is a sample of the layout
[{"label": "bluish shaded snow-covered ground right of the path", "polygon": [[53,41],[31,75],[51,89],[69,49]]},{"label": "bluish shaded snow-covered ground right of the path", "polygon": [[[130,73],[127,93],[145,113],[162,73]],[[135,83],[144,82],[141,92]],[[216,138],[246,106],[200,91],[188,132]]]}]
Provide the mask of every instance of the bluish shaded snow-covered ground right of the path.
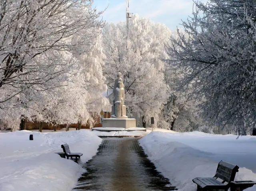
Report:
[{"label": "bluish shaded snow-covered ground right of the path", "polygon": [[[196,191],[192,179],[213,177],[220,160],[240,167],[236,180],[256,181],[256,136],[236,138],[202,132],[151,132],[140,144],[179,191]],[[256,191],[256,187],[250,190]]]}]

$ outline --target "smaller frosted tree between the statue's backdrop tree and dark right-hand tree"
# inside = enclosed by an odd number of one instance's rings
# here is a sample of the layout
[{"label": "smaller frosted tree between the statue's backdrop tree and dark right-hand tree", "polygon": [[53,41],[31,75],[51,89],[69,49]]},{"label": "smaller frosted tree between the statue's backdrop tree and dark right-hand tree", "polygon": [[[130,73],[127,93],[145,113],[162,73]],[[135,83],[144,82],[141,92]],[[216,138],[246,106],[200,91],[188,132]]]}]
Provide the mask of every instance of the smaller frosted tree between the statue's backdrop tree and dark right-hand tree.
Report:
[{"label": "smaller frosted tree between the statue's backdrop tree and dark right-hand tree", "polygon": [[[168,128],[178,132],[192,131],[202,124],[198,115],[198,102],[194,99],[192,87],[180,89],[178,79],[181,74],[167,67],[164,71],[164,79],[169,85],[168,101],[162,110],[162,128]],[[165,122],[163,124],[163,122]]]}]

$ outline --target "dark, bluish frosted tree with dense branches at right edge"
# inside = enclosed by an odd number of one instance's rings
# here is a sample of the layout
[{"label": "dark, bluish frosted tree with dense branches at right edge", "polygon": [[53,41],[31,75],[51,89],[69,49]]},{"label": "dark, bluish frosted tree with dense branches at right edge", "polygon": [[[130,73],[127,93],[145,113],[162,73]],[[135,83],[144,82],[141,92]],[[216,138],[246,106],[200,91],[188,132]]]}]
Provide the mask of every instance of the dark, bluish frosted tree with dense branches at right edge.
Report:
[{"label": "dark, bluish frosted tree with dense branches at right edge", "polygon": [[235,125],[245,134],[256,121],[255,17],[253,0],[194,2],[168,46],[172,69],[182,72],[181,87],[193,85],[203,117],[213,124]]}]

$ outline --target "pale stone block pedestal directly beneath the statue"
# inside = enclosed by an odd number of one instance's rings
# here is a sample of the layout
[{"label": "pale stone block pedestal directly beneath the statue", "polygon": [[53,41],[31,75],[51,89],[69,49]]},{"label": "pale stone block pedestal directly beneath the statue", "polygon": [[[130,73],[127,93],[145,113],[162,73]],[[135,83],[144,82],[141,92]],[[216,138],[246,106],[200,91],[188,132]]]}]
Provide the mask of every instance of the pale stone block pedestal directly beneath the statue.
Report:
[{"label": "pale stone block pedestal directly beneath the statue", "polygon": [[130,118],[106,118],[102,122],[102,127],[119,127],[119,128],[133,128],[136,127],[136,119]]}]

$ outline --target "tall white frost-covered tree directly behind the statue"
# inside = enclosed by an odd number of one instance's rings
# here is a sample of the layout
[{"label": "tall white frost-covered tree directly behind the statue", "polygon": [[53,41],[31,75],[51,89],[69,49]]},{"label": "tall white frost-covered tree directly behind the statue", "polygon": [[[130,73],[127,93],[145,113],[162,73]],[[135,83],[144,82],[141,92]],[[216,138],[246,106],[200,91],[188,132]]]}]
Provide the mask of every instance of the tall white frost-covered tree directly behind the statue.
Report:
[{"label": "tall white frost-covered tree directly behind the statue", "polygon": [[164,42],[170,30],[135,15],[130,19],[129,36],[126,23],[108,24],[103,32],[105,65],[103,73],[113,88],[118,72],[122,73],[126,93],[125,104],[130,117],[142,119],[145,127],[150,117],[158,116],[166,102],[168,85],[164,82],[166,57]]}]

